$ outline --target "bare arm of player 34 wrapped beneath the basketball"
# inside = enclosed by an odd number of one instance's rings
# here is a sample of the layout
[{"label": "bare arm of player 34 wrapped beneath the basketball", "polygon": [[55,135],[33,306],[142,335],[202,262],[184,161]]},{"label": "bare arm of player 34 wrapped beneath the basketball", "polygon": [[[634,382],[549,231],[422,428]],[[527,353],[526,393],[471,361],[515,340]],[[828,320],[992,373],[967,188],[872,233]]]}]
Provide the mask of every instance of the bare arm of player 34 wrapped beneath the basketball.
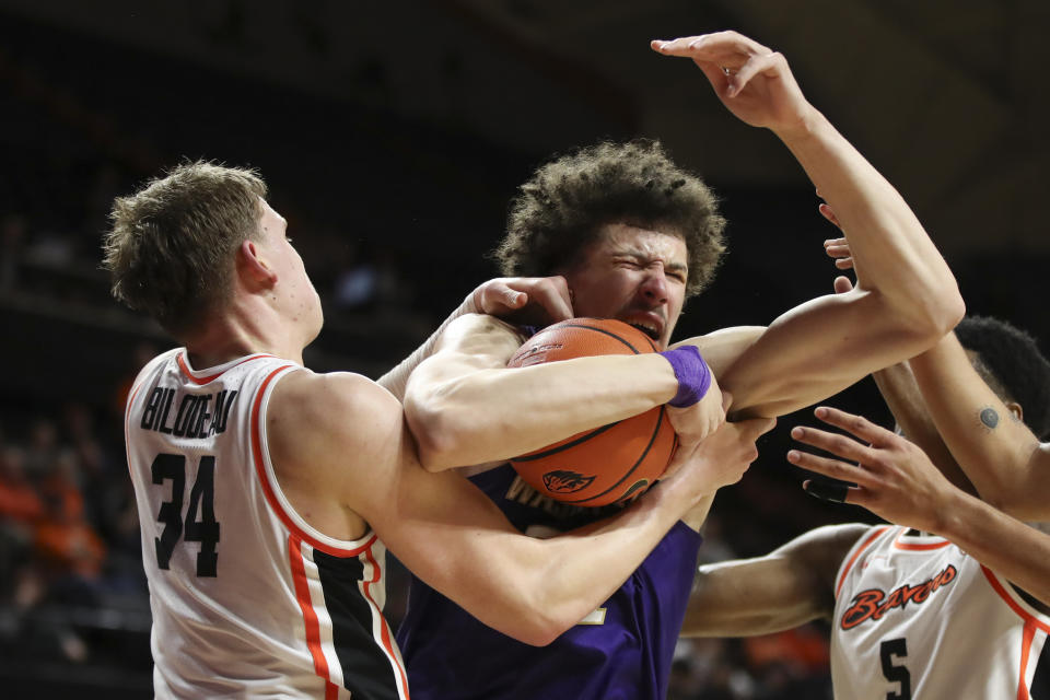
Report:
[{"label": "bare arm of player 34 wrapped beneath the basketball", "polygon": [[466,479],[423,470],[400,406],[366,380],[306,377],[278,390],[285,393],[275,395],[283,402],[275,424],[283,427],[270,444],[298,435],[295,444],[306,448],[278,445],[275,462],[294,460],[284,469],[298,479],[295,493],[317,499],[300,512],[323,513],[327,504],[343,517],[363,517],[416,575],[486,625],[532,644],[578,623],[697,501],[738,479],[757,455],[755,439],[771,424],[726,425],[619,515],[539,540],[515,530]]}]

